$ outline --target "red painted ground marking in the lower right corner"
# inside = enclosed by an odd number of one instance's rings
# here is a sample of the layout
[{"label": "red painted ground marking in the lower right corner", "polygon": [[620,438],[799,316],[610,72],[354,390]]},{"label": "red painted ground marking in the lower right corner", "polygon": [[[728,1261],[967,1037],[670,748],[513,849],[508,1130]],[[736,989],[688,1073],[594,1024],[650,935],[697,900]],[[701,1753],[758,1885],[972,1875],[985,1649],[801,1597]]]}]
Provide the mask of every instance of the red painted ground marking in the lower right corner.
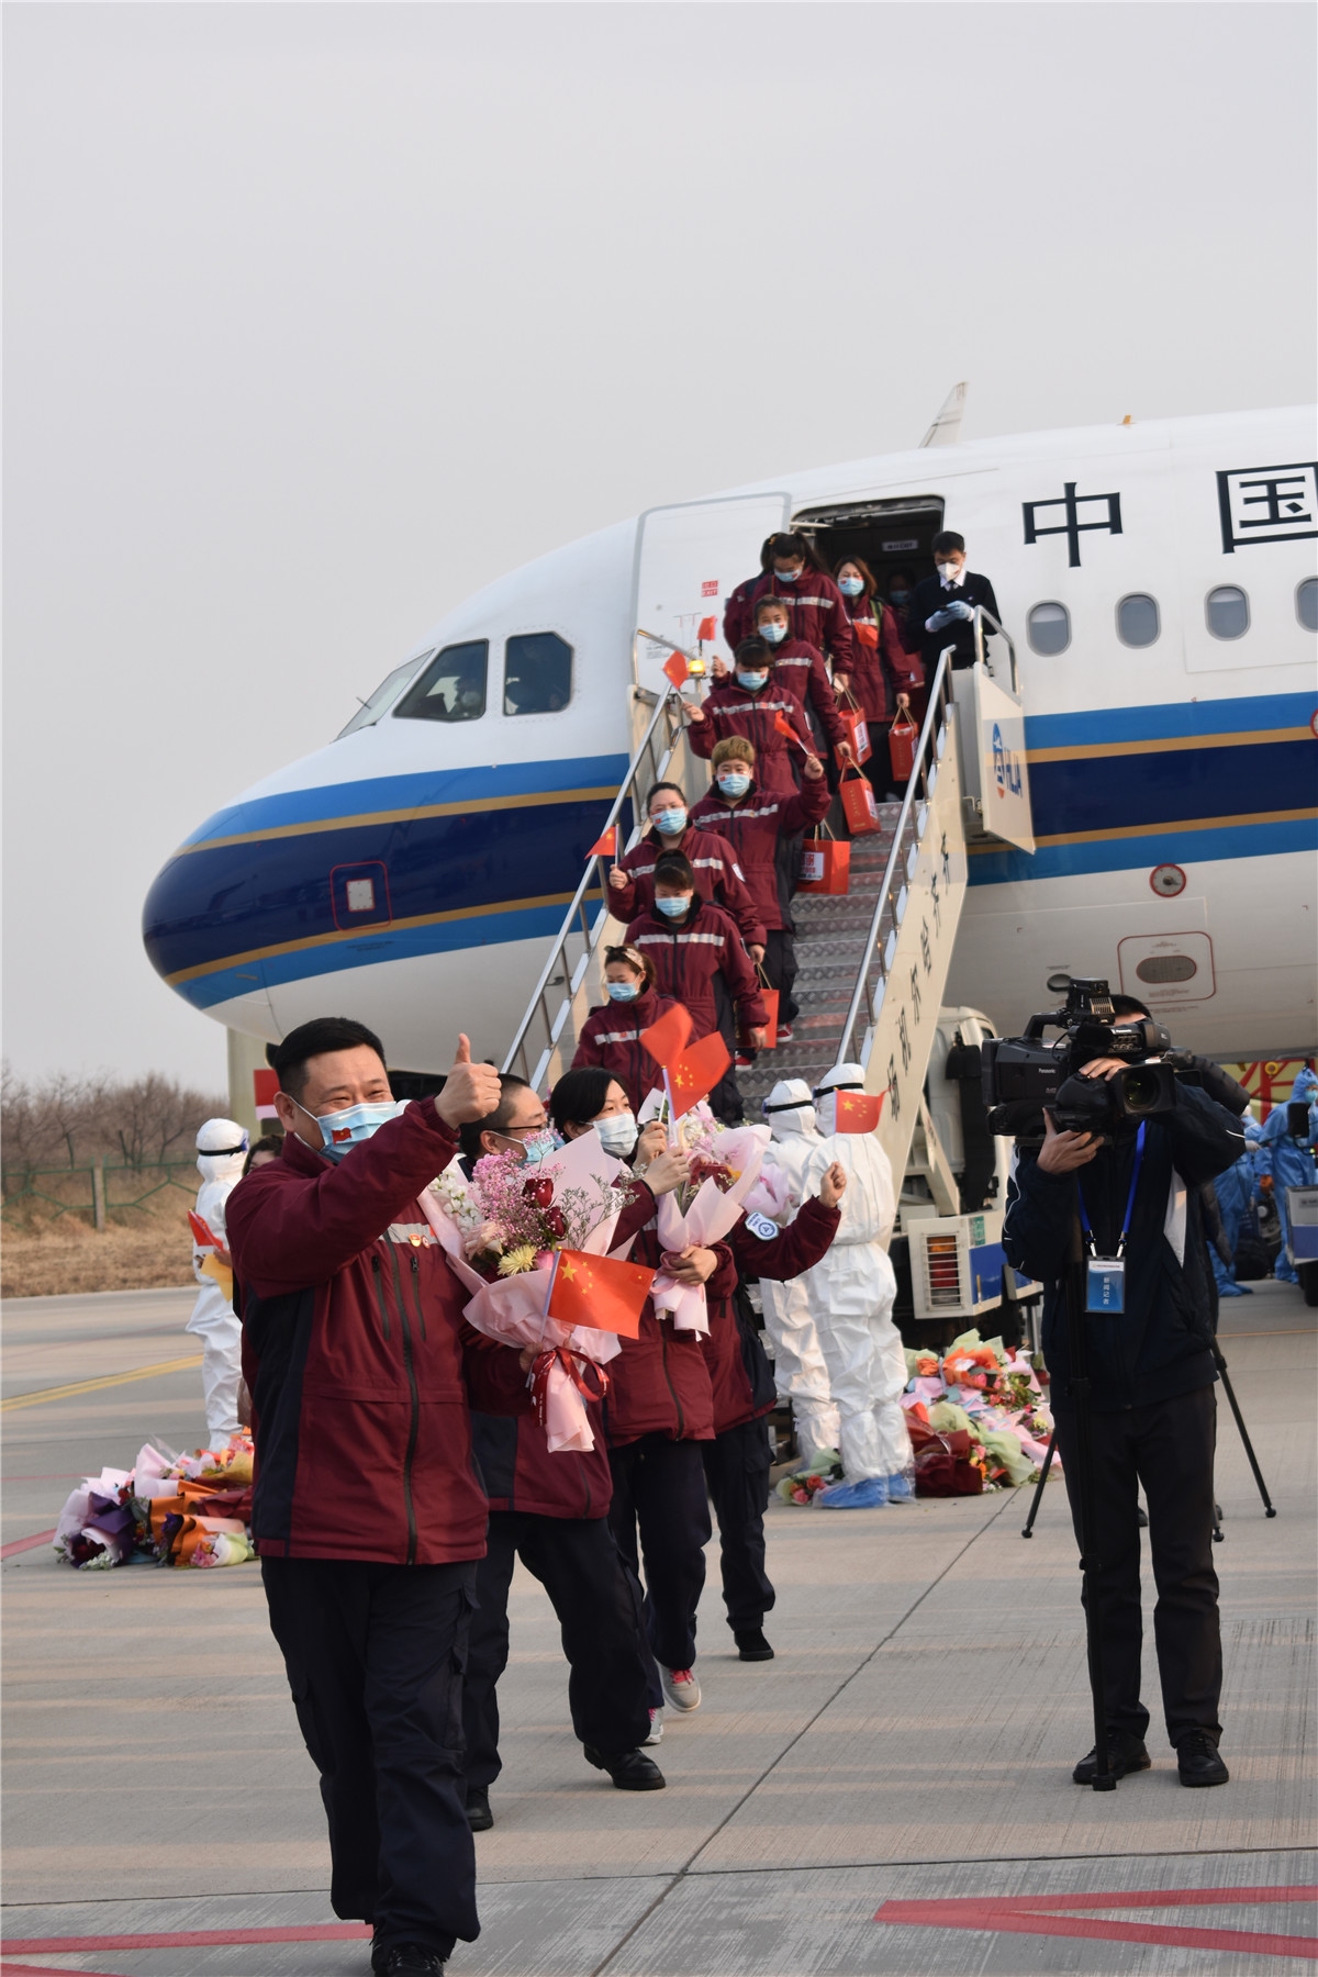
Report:
[{"label": "red painted ground marking in the lower right corner", "polygon": [[1199,1930],[1168,1922],[1111,1922],[1053,1916],[1053,1908],[1213,1908],[1221,1904],[1312,1902],[1318,1886],[1298,1888],[1126,1888],[1118,1894],[958,1896],[929,1902],[883,1902],[875,1922],[895,1928],[984,1930],[1008,1935],[1083,1935],[1107,1943],[1166,1943],[1178,1949],[1237,1949],[1318,1963],[1316,1935],[1269,1935],[1259,1930]]}]

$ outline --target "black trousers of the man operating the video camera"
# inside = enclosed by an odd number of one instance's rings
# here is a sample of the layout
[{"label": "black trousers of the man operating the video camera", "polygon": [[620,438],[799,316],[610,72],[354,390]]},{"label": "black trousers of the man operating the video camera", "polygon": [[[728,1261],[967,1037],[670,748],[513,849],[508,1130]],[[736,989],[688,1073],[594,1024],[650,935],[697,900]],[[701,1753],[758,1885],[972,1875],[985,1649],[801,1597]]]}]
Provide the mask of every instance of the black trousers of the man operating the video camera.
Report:
[{"label": "black trousers of the man operating the video camera", "polygon": [[[1111,1730],[1144,1736],[1140,1702],[1140,1526],[1136,1485],[1148,1504],[1148,1544],[1158,1603],[1154,1643],[1172,1744],[1190,1730],[1221,1736],[1221,1629],[1213,1572],[1213,1388],[1150,1408],[1093,1416],[1095,1544],[1103,1613],[1103,1682]],[[1075,1416],[1057,1414],[1057,1449],[1079,1540]]]}]

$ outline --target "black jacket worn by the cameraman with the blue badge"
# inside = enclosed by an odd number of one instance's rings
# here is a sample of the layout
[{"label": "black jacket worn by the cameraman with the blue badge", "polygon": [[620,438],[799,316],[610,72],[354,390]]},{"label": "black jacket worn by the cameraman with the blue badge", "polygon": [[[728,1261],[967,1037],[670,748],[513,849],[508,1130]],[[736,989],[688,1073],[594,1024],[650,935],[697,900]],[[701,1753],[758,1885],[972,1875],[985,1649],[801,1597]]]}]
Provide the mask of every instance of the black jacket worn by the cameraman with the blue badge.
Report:
[{"label": "black jacket worn by the cameraman with the blue badge", "polygon": [[[1182,1083],[1176,1087],[1176,1109],[1148,1121],[1126,1240],[1126,1309],[1120,1317],[1085,1317],[1095,1414],[1172,1400],[1217,1378],[1211,1350],[1217,1307],[1199,1186],[1239,1160],[1243,1149],[1241,1121]],[[1116,1249],[1132,1162],[1134,1133],[1105,1147],[1079,1170],[1099,1255]],[[1053,1382],[1053,1406],[1063,1412],[1075,1406],[1061,1283],[1075,1180],[1075,1174],[1041,1172],[1033,1151],[1022,1151],[1008,1182],[1002,1230],[1012,1269],[1045,1285],[1043,1358]],[[1184,1214],[1184,1224],[1180,1214],[1174,1218],[1174,1208]],[[1178,1255],[1172,1238],[1182,1230]]]}]

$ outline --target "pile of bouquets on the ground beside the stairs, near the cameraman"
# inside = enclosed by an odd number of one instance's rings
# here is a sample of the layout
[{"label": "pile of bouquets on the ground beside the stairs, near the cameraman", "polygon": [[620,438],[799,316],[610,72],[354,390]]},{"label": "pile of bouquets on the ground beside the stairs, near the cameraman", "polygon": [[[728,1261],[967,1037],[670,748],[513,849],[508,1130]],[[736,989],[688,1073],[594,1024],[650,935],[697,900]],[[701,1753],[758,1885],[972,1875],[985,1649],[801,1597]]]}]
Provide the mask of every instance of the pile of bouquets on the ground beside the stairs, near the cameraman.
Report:
[{"label": "pile of bouquets on the ground beside the stairs, near the cameraman", "polygon": [[970,1331],[943,1352],[907,1348],[907,1372],[917,1497],[978,1497],[1037,1479],[1053,1431],[1041,1366]]}]

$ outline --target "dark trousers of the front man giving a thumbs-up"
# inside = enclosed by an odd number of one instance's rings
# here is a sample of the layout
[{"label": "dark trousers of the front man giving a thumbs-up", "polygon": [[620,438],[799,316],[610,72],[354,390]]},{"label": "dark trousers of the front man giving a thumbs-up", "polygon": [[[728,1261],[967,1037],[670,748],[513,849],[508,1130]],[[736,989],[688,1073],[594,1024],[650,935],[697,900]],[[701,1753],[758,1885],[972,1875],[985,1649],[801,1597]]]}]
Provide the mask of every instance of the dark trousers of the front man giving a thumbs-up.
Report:
[{"label": "dark trousers of the front man giving a thumbs-up", "polygon": [[271,1631],[330,1823],[330,1906],[379,1943],[480,1935],[462,1787],[474,1560],[263,1558]]}]

